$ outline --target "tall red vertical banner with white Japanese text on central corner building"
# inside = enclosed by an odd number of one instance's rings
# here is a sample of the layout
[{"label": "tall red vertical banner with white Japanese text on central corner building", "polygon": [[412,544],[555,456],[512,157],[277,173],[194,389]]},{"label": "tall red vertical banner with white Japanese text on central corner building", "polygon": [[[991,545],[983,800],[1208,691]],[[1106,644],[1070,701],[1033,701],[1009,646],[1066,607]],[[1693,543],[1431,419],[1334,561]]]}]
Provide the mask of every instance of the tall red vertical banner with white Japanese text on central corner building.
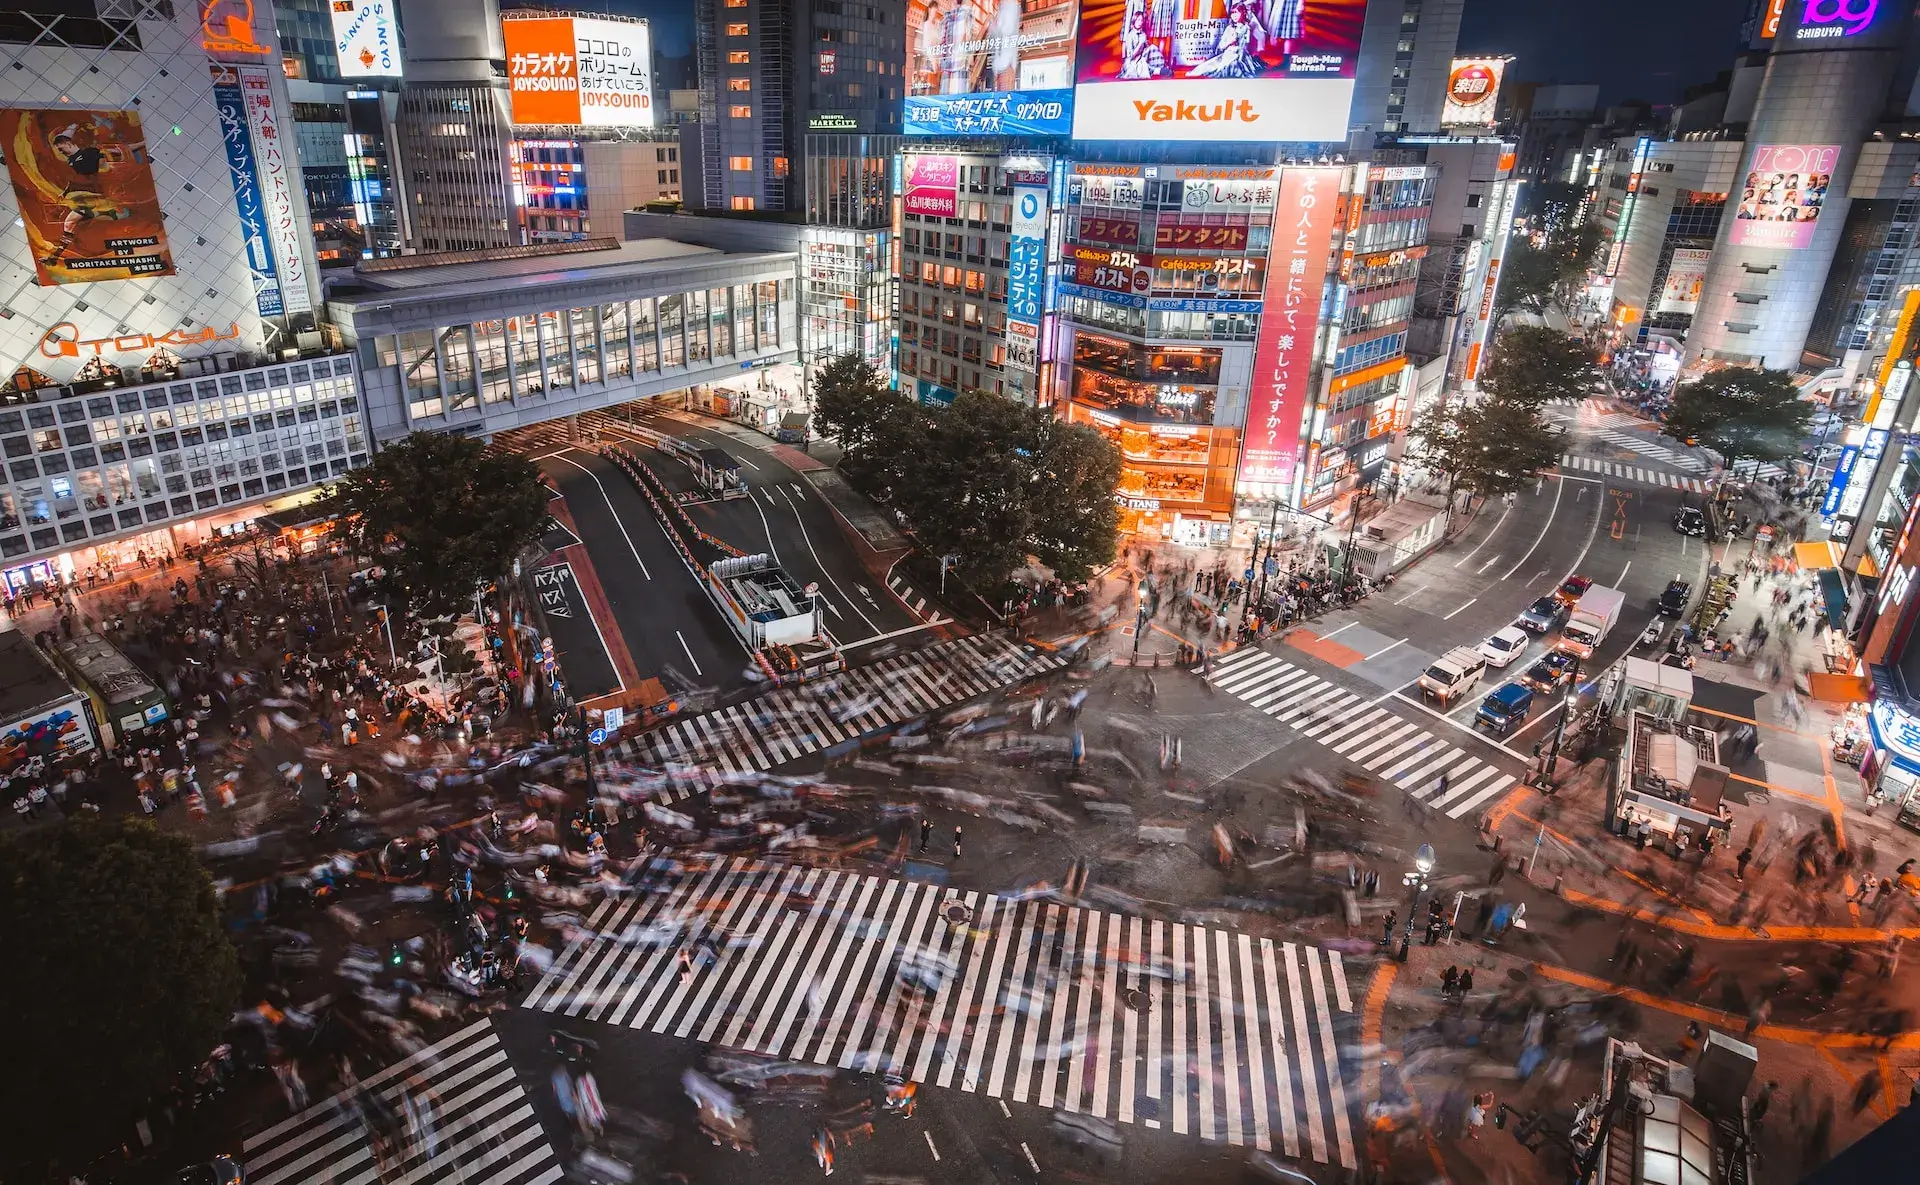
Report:
[{"label": "tall red vertical banner with white Japanese text on central corner building", "polygon": [[1313,369],[1321,286],[1332,261],[1344,169],[1284,169],[1273,207],[1273,252],[1254,346],[1254,396],[1240,482],[1290,486]]}]

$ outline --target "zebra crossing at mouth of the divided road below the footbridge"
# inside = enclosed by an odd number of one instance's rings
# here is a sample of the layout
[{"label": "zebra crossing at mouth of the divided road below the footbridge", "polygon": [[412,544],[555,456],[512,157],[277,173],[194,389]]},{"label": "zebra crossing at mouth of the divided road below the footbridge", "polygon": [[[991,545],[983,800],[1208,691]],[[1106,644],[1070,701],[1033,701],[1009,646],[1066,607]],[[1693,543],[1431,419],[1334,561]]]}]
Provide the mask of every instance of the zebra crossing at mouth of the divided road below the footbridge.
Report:
[{"label": "zebra crossing at mouth of the divided road below the footbridge", "polygon": [[611,755],[649,766],[697,764],[755,774],[962,699],[1044,674],[1064,659],[1006,634],[941,641],[820,684],[676,720],[618,741]]}]

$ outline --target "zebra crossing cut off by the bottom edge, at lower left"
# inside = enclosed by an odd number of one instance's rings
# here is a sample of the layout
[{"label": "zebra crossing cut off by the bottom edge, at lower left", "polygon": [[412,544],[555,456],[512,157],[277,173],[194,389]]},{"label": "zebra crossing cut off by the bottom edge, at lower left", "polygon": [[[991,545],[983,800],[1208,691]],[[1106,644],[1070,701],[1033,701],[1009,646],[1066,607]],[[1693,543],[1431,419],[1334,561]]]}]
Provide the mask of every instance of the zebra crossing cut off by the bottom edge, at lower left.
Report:
[{"label": "zebra crossing cut off by the bottom edge, at lower left", "polygon": [[361,1079],[359,1089],[411,1129],[384,1164],[348,1091],[248,1137],[250,1185],[551,1185],[566,1175],[492,1020]]}]

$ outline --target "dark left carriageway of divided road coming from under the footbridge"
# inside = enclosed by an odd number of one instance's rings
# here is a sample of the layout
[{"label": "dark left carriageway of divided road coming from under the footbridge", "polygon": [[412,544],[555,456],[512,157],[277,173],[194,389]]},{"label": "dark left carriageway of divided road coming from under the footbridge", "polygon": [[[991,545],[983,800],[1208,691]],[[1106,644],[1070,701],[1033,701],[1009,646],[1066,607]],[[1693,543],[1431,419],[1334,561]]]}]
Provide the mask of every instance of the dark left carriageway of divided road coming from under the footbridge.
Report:
[{"label": "dark left carriageway of divided road coming from under the footbridge", "polygon": [[612,463],[586,449],[540,461],[580,524],[580,538],[643,676],[676,689],[745,684],[747,649],[680,561],[653,507]]}]

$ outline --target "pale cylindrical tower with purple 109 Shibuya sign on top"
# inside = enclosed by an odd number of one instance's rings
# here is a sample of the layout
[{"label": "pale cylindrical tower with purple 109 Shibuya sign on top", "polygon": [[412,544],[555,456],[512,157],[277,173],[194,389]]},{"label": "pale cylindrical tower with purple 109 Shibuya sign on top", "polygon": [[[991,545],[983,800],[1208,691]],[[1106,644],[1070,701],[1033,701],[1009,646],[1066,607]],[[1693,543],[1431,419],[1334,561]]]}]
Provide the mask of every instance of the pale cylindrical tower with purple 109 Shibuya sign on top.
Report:
[{"label": "pale cylindrical tower with purple 109 Shibuya sign on top", "polygon": [[[1855,165],[1912,83],[1912,10],[1786,6],[1720,219],[1688,363],[1799,367],[1853,204]],[[1903,65],[1905,63],[1905,65]],[[1905,83],[1897,83],[1905,79]]]}]

